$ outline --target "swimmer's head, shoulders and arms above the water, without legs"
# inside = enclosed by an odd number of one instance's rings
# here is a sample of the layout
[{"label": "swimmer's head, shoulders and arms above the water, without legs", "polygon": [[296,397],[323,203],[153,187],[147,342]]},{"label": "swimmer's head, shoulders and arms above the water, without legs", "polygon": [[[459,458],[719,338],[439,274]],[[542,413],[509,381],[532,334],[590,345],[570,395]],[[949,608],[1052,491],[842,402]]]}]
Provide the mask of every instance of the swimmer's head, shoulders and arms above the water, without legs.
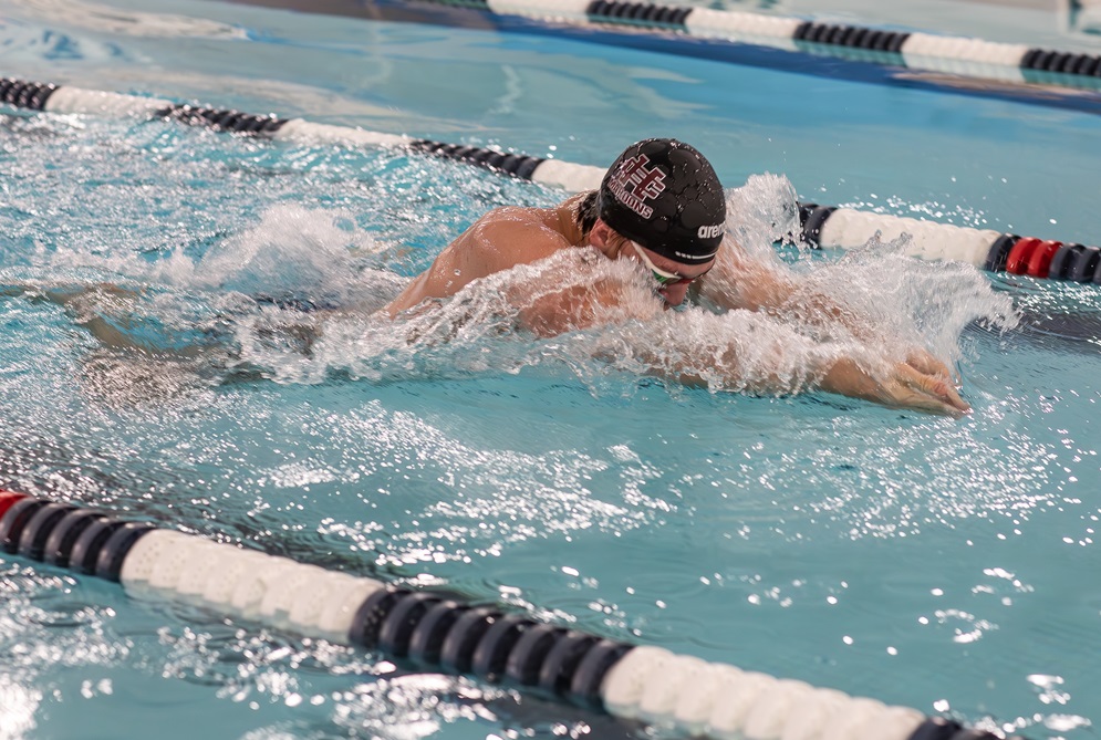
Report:
[{"label": "swimmer's head, shoulders and arms above the water, without legs", "polygon": [[[752,259],[726,233],[726,198],[712,165],[694,147],[655,138],[627,147],[599,190],[573,196],[554,208],[503,207],[478,219],[415,278],[383,311],[397,317],[449,299],[476,280],[581,249],[596,259],[635,260],[653,277],[666,309],[685,301],[725,311],[781,315],[801,308],[828,316],[869,344],[875,336],[844,305],[823,294],[808,296],[796,277]],[[579,269],[592,265],[581,260]],[[585,290],[548,291],[527,300],[520,322],[553,336],[589,329],[609,315],[617,292],[598,280]],[[923,348],[872,374],[855,358],[817,368],[818,387],[886,406],[958,416],[969,406],[947,366]],[[678,376],[698,382],[699,378]],[[731,378],[736,381],[737,378]],[[782,387],[759,387],[761,393]]]}]

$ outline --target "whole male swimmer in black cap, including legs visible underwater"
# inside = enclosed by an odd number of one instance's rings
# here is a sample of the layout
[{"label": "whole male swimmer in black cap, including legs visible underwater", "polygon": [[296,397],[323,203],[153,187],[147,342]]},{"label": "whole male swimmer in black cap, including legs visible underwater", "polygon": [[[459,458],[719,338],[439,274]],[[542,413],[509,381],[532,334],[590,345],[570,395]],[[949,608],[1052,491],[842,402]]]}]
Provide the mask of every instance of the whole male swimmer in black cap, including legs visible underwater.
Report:
[{"label": "whole male swimmer in black cap, including legs visible underwater", "polygon": [[[627,147],[612,164],[599,190],[577,195],[555,208],[505,207],[486,213],[448,244],[432,267],[409,282],[381,314],[393,319],[430,311],[433,305],[475,281],[562,257],[565,250],[574,250],[579,258],[571,263],[577,271],[568,283],[553,282],[552,277],[541,273],[542,282],[534,285],[529,275],[527,282],[517,281],[521,288],[503,295],[517,311],[520,325],[540,336],[614,323],[627,316],[652,317],[648,309],[635,315],[637,304],[629,305],[623,300],[622,283],[601,279],[599,274],[601,262],[634,260],[650,272],[653,289],[666,309],[679,306],[686,300],[703,300],[720,311],[766,312],[778,319],[797,309],[794,313],[802,311],[840,324],[868,346],[880,338],[869,322],[837,300],[807,290],[807,285],[777,264],[751,258],[726,233],[726,198],[707,159],[687,144],[661,138]],[[553,275],[553,271],[550,273]],[[139,292],[111,284],[0,286],[0,295],[28,292],[73,311],[80,317],[79,323],[107,346],[146,348],[116,325],[117,321],[101,315],[102,306],[84,306],[91,299],[101,296],[110,304],[108,309],[121,310],[123,305],[114,304],[125,304]],[[648,300],[646,303],[653,306]],[[309,304],[309,312],[318,317],[350,311],[355,309],[319,309]],[[307,353],[322,331],[316,321],[283,330],[294,346]],[[199,344],[157,352],[195,357],[209,350]],[[731,346],[723,356],[736,354],[737,348]],[[813,361],[819,366],[806,369],[813,384],[823,390],[953,416],[969,410],[944,363],[922,348],[903,354],[870,368],[855,357],[823,352],[820,357],[824,358]],[[709,367],[707,374],[710,378],[719,376],[724,385],[757,393],[792,390],[790,378],[783,379],[776,373],[766,373],[764,381],[747,383],[748,378],[740,377],[739,371],[731,369],[737,366],[737,362],[731,362],[729,367]],[[654,363],[655,372],[657,367]],[[661,372],[685,383],[704,381],[698,369],[666,364]]]}]

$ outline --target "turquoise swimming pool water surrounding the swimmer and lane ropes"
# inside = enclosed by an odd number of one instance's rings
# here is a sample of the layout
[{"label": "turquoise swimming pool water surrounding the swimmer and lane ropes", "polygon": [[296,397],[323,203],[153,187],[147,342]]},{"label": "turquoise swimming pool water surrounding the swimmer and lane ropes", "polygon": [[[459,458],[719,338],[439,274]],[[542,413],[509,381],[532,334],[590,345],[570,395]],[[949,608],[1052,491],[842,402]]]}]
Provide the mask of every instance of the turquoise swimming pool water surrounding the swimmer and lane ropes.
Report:
[{"label": "turquoise swimming pool water surrounding the swimmer and lane ropes", "polygon": [[[598,166],[661,133],[730,187],[777,173],[806,200],[1098,242],[1099,124],[1072,111],[215,3],[141,3],[160,21],[144,30],[138,3],[0,7],[7,74]],[[970,725],[1076,738],[1101,717],[1095,286],[783,252],[958,347],[959,421],[671,387],[593,361],[602,336],[477,322],[409,351],[364,311],[304,353],[297,327],[320,320],[252,296],[378,305],[487,208],[561,194],[167,122],[2,125],[3,282],[147,289],[0,302],[6,484]],[[755,178],[739,197],[775,215],[787,192]],[[973,323],[1005,298],[1019,326]],[[82,311],[215,351],[112,351]],[[3,569],[7,737],[646,732]]]}]

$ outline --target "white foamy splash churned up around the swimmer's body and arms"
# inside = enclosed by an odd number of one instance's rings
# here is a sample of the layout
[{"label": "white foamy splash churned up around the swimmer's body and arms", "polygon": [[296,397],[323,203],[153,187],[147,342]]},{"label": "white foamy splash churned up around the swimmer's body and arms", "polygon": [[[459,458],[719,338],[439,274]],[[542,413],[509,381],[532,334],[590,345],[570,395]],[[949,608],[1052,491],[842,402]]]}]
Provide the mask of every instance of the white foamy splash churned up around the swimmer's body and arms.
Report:
[{"label": "white foamy splash churned up around the swimmer's body and arms", "polygon": [[967,324],[1012,323],[1009,299],[977,270],[904,257],[901,241],[834,262],[800,252],[786,263],[773,242],[798,226],[798,216],[794,189],[782,177],[750,178],[728,202],[730,236],[794,286],[767,312],[666,311],[635,261],[578,248],[474,281],[450,300],[391,321],[377,311],[405,280],[381,263],[389,246],[340,210],[289,205],[270,208],[257,226],[198,259],[181,250],[153,264],[111,258],[104,267],[143,286],[132,294],[89,291],[72,305],[85,325],[107,324],[122,342],[154,352],[205,354],[226,377],[382,382],[550,365],[594,389],[625,374],[783,395],[816,387],[841,357],[872,374],[915,346],[956,362]]}]

